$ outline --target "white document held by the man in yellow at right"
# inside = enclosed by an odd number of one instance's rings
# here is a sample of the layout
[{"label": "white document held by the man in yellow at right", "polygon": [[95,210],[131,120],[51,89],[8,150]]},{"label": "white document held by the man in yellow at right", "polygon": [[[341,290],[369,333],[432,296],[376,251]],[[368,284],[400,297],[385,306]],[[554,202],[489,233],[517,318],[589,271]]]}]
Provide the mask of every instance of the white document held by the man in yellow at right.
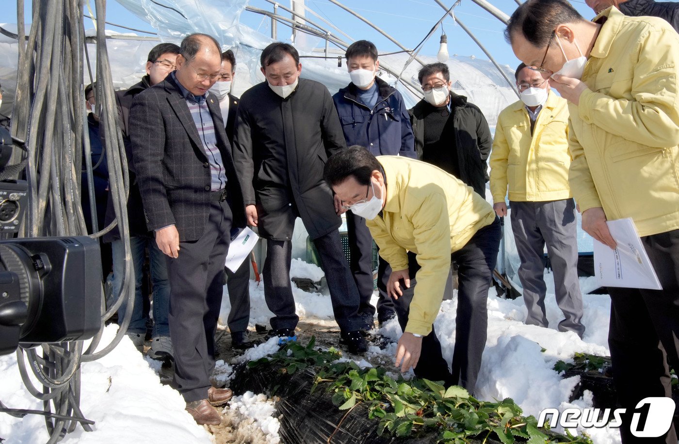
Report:
[{"label": "white document held by the man in yellow at right", "polygon": [[627,218],[607,221],[606,224],[618,246],[612,250],[594,240],[594,274],[600,286],[662,290],[634,221]]}]

